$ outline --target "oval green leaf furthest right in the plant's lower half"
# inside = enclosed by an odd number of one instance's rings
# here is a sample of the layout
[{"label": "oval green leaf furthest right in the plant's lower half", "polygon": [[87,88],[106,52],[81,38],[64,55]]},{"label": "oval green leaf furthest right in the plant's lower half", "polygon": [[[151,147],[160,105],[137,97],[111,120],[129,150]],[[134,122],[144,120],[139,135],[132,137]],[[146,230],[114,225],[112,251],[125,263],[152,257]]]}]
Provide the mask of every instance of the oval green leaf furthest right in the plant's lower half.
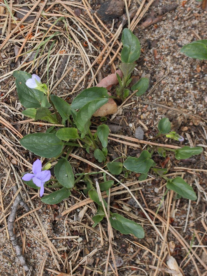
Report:
[{"label": "oval green leaf furthest right in the plant's lower half", "polygon": [[177,176],[174,179],[167,181],[167,189],[175,191],[177,194],[190,200],[196,200],[197,196],[193,188],[188,185],[181,177]]}]

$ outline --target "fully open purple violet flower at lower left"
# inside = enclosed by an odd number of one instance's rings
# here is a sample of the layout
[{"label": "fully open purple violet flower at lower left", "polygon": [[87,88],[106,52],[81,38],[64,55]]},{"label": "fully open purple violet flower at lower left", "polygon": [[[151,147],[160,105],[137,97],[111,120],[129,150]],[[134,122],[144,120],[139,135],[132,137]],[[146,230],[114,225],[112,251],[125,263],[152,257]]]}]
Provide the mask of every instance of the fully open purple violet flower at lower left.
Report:
[{"label": "fully open purple violet flower at lower left", "polygon": [[50,171],[42,171],[42,163],[37,159],[32,166],[33,174],[25,174],[22,179],[24,181],[29,181],[32,179],[33,183],[40,187],[40,197],[44,193],[44,183],[48,181],[51,177]]}]

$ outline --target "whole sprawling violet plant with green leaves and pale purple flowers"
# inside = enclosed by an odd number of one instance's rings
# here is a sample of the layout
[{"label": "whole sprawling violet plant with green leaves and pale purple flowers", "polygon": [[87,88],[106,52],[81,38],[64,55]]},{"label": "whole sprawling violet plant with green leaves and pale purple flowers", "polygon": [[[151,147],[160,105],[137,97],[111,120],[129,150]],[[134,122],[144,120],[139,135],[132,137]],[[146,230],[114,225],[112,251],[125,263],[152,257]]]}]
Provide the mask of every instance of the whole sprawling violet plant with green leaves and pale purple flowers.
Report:
[{"label": "whole sprawling violet plant with green leaves and pale purple flowers", "polygon": [[[131,82],[130,76],[136,66],[134,61],[140,56],[140,43],[128,29],[123,31],[122,43],[120,68],[123,72],[123,78],[117,76],[119,86],[116,88],[116,92],[117,96],[123,100],[130,93],[127,86]],[[41,161],[37,159],[33,163],[33,173],[26,173],[22,176],[26,185],[40,189],[41,197],[44,193],[44,186],[49,185],[48,182],[52,183],[50,185],[51,189],[57,189],[42,197],[42,202],[47,204],[61,202],[71,195],[71,190],[81,180],[86,185],[84,193],[88,194],[98,204],[97,214],[93,217],[93,226],[105,217],[102,202],[99,200],[95,183],[90,175],[74,175],[71,164],[68,162],[71,151],[78,147],[93,154],[99,163],[107,166],[111,174],[118,175],[124,172],[126,176],[135,172],[140,174],[140,180],[144,180],[151,170],[166,179],[168,189],[174,190],[184,198],[196,200],[197,196],[193,188],[182,178],[169,179],[165,176],[167,169],[157,167],[153,160],[153,153],[157,151],[161,158],[173,153],[175,158],[180,160],[200,154],[202,152],[201,147],[190,148],[184,146],[176,150],[164,147],[148,147],[147,150],[141,152],[138,158],[128,156],[123,163],[116,160],[107,163],[109,127],[100,121],[96,133],[92,134],[90,128],[90,121],[94,112],[108,102],[109,95],[104,87],[91,87],[83,90],[70,105],[62,98],[50,94],[47,85],[41,82],[39,76],[30,75],[24,71],[15,71],[13,75],[16,78],[15,83],[19,100],[22,106],[26,108],[22,111],[22,114],[33,118],[35,121],[47,121],[52,124],[45,132],[31,133],[20,140],[22,147],[37,156],[49,159],[43,170]],[[131,90],[136,91],[136,96],[140,96],[147,90],[148,84],[148,79],[141,78],[131,87]],[[158,130],[159,133],[155,137],[156,139],[165,135],[176,141],[184,140],[175,131],[170,131],[171,123],[168,118],[159,121]],[[51,176],[49,171],[52,162],[55,163],[54,176]],[[113,180],[107,180],[105,174],[103,174],[103,178],[104,181],[99,183],[100,190],[108,193],[111,186],[116,184]],[[104,199],[103,202],[106,207],[107,203]],[[138,238],[144,237],[144,230],[139,224],[119,214],[110,213],[110,215],[109,220],[112,226],[121,233],[132,233]]]}]

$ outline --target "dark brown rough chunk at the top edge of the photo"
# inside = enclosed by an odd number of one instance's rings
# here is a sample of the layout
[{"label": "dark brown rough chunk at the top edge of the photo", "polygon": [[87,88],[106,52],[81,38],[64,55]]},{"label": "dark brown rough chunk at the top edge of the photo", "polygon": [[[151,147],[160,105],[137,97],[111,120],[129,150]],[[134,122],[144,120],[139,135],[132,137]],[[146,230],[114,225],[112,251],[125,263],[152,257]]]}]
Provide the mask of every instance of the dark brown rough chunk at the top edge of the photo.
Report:
[{"label": "dark brown rough chunk at the top edge of the photo", "polygon": [[124,6],[124,1],[121,0],[105,1],[101,4],[97,13],[104,21],[113,20],[123,14]]}]

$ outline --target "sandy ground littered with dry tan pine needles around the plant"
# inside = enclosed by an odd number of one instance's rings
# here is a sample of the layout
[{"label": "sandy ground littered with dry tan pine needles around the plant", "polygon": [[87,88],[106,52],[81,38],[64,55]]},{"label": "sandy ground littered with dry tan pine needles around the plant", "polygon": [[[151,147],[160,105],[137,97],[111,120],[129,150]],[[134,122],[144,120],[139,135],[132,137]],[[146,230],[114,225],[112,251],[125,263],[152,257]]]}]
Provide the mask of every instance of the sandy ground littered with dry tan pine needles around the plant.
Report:
[{"label": "sandy ground littered with dry tan pine needles around the plant", "polygon": [[[43,132],[48,126],[44,122],[35,124],[21,115],[23,109],[18,101],[12,72],[23,70],[36,73],[43,75],[43,80],[47,81],[49,52],[50,90],[67,102],[71,102],[83,88],[93,86],[114,73],[120,62],[121,50],[118,48],[122,29],[128,27],[127,17],[101,21],[101,16],[96,13],[99,4],[99,1],[33,1],[29,3],[29,7],[33,8],[32,17],[27,15],[24,19],[22,10],[28,4],[24,6],[24,1],[21,4],[8,2],[14,19],[19,22],[23,18],[21,29],[15,29],[16,23],[11,14],[7,13],[4,4],[0,6],[0,275],[57,275],[60,272],[68,275],[115,275],[112,255],[108,254],[109,244],[113,249],[118,275],[167,275],[170,272],[166,265],[167,244],[171,241],[175,243],[172,255],[184,275],[206,275],[207,63],[180,53],[183,45],[206,39],[206,11],[201,2],[182,1],[178,2],[177,8],[174,1],[146,2],[145,12],[140,16],[137,13],[139,1],[128,2],[128,10],[136,14],[131,18],[132,30],[142,47],[132,75],[148,77],[150,87],[140,98],[130,98],[113,120],[110,120],[111,116],[107,120],[111,133],[116,135],[109,139],[109,161],[126,155],[137,157],[145,145],[138,144],[139,147],[136,147],[137,142],[126,138],[135,138],[136,128],[140,126],[144,131],[143,140],[150,141],[157,133],[159,119],[163,117],[170,119],[172,130],[185,140],[179,143],[162,138],[158,140],[160,143],[201,145],[203,153],[187,160],[178,161],[173,155],[169,155],[167,160],[158,155],[154,157],[158,166],[169,169],[171,177],[182,176],[192,185],[198,195],[197,201],[177,199],[170,191],[166,194],[165,180],[157,178],[152,172],[144,182],[138,181],[137,174],[131,174],[128,178],[121,174],[118,179],[129,186],[151,220],[158,213],[152,225],[131,194],[118,186],[117,194],[113,194],[112,190],[111,211],[142,224],[145,238],[138,240],[113,230],[114,239],[110,242],[106,220],[96,228],[91,227],[91,217],[97,206],[86,202],[77,208],[76,204],[85,199],[81,182],[69,199],[58,205],[45,205],[37,191],[25,187],[21,181],[21,173],[31,168],[36,156],[22,148],[19,140],[25,134]],[[168,5],[173,8],[169,9]],[[42,13],[39,13],[40,9]],[[80,16],[79,10],[75,9],[81,10]],[[157,23],[146,26],[159,14],[164,15],[159,17]],[[61,16],[63,20],[56,21]],[[133,18],[140,20],[135,22]],[[32,36],[25,40],[28,33]],[[86,40],[88,46],[85,47]],[[37,49],[41,41],[45,43]],[[21,56],[16,60],[18,53]],[[96,127],[99,123],[99,118],[95,118],[92,125]],[[125,139],[121,139],[120,135]],[[128,142],[133,142],[134,146]],[[94,162],[93,157],[83,151],[73,153]],[[75,173],[81,173],[86,168],[95,171],[79,159],[71,158],[70,161]],[[97,164],[104,167],[104,164]],[[102,181],[100,175],[98,177]],[[30,268],[29,273],[23,271],[6,227],[13,206],[15,184],[17,189],[21,188],[21,197],[29,206],[28,212],[19,205],[16,213],[18,220],[15,222],[17,242]],[[46,193],[50,191],[45,190]],[[71,212],[61,216],[71,206],[74,206]],[[109,263],[112,268],[108,265],[107,271],[105,267]]]}]

